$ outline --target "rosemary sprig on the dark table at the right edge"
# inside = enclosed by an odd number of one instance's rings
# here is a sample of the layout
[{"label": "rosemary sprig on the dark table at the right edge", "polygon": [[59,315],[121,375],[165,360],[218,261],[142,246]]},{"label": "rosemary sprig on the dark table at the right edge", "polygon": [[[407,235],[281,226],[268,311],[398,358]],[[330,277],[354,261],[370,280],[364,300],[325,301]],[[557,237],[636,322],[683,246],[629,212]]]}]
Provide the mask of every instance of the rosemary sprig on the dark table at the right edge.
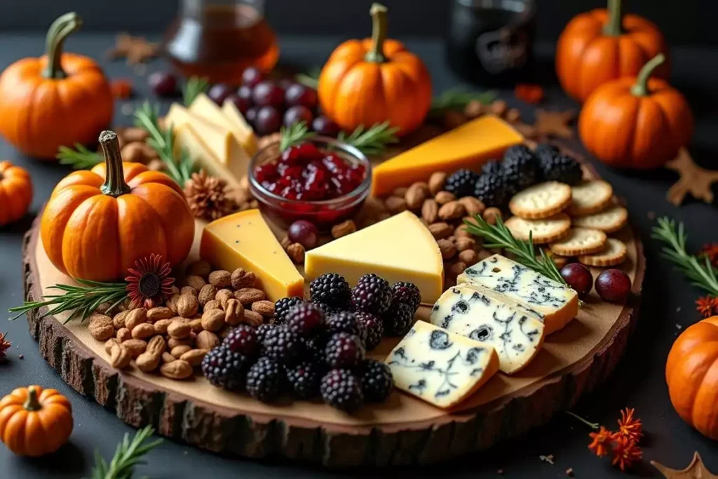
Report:
[{"label": "rosemary sprig on the dark table at the right edge", "polygon": [[677,269],[691,280],[691,284],[718,297],[718,274],[709,258],[704,257],[704,262],[701,262],[697,256],[686,252],[688,235],[683,223],[676,226],[676,221],[671,218],[658,218],[658,226],[653,227],[651,238],[668,245],[663,247],[663,257],[676,264]]}]

